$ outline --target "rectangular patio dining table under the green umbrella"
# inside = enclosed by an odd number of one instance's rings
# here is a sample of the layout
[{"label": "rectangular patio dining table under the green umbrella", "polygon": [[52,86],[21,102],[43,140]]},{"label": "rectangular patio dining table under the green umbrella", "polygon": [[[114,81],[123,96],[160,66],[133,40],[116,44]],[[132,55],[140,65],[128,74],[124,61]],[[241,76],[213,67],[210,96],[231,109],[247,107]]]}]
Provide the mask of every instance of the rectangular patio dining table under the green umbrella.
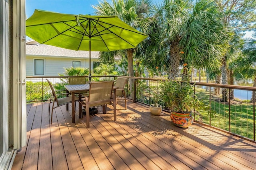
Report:
[{"label": "rectangular patio dining table under the green umbrella", "polygon": [[[67,93],[71,93],[72,96],[72,123],[75,123],[75,94],[78,93],[86,93],[90,89],[90,84],[82,84],[82,85],[64,85]],[[116,94],[116,89],[118,87],[114,86],[114,93]],[[66,106],[68,111],[68,104]],[[82,108],[82,105],[79,103],[79,108]],[[82,113],[79,112],[79,118],[82,118]]]}]

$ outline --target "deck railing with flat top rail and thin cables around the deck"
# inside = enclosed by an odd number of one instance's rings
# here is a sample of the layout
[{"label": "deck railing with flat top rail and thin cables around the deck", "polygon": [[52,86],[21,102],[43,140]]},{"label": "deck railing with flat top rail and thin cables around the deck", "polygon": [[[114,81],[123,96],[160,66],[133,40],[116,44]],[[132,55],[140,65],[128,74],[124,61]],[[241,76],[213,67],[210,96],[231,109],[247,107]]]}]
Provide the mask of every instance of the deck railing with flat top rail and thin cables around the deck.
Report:
[{"label": "deck railing with flat top rail and thin cables around the deck", "polygon": [[[50,80],[58,93],[66,93],[64,85],[68,84],[69,76],[28,76],[27,102],[47,101],[51,95],[50,87],[46,79]],[[72,77],[72,76],[70,76]],[[115,80],[123,76],[93,76],[92,81]],[[165,79],[152,79],[141,77],[126,77],[126,97],[135,101],[150,105],[153,102],[153,94],[159,93],[160,85]],[[246,140],[255,142],[255,91],[256,87],[220,85],[215,83],[191,82],[194,86],[194,93],[198,99],[211,105],[214,117],[205,111],[194,113],[196,122],[218,128],[224,132],[239,136]],[[132,87],[132,88],[130,88]],[[220,96],[215,93],[222,89],[227,90],[228,101],[222,102]],[[159,99],[158,104],[168,111],[164,103]]]}]

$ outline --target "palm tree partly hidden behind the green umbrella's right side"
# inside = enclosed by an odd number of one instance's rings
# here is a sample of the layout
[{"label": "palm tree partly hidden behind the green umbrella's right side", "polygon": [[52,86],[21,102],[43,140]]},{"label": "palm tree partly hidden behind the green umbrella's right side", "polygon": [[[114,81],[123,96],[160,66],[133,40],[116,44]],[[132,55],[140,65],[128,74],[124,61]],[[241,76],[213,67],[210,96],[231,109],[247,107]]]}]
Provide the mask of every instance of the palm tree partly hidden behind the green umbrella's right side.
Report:
[{"label": "palm tree partly hidden behind the green umbrella's right side", "polygon": [[[138,30],[147,27],[146,18],[152,14],[152,0],[107,0],[101,1],[98,5],[92,6],[98,15],[116,15],[126,24]],[[100,60],[110,62],[114,56],[122,56],[124,53],[128,60],[128,75],[134,76],[133,53],[135,49],[120,51],[101,52]]]}]

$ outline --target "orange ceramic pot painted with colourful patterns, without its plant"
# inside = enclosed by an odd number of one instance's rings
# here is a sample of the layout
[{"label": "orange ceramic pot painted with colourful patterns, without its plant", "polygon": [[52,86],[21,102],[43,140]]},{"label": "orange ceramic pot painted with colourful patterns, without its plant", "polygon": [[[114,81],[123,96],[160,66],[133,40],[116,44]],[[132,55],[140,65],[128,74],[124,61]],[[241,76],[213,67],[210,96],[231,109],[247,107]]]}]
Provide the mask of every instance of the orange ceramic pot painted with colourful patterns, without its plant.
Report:
[{"label": "orange ceramic pot painted with colourful patterns, without its plant", "polygon": [[187,128],[190,125],[192,125],[194,119],[191,115],[191,113],[176,113],[172,112],[171,120],[177,127]]}]

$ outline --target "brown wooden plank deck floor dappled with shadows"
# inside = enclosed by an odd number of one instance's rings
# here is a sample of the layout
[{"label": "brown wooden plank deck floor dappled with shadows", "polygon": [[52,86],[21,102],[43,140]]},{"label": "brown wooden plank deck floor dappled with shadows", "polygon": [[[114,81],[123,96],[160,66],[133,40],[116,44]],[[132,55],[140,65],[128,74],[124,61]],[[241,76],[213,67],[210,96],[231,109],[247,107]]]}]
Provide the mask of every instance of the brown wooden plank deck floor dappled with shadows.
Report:
[{"label": "brown wooden plank deck floor dappled with shadows", "polygon": [[[255,169],[256,144],[194,123],[175,127],[168,113],[152,116],[149,107],[118,100],[113,113],[76,115],[71,106],[55,109],[53,123],[48,103],[27,105],[27,145],[16,155],[13,170],[158,170]],[[78,112],[78,111],[77,111]]]}]

